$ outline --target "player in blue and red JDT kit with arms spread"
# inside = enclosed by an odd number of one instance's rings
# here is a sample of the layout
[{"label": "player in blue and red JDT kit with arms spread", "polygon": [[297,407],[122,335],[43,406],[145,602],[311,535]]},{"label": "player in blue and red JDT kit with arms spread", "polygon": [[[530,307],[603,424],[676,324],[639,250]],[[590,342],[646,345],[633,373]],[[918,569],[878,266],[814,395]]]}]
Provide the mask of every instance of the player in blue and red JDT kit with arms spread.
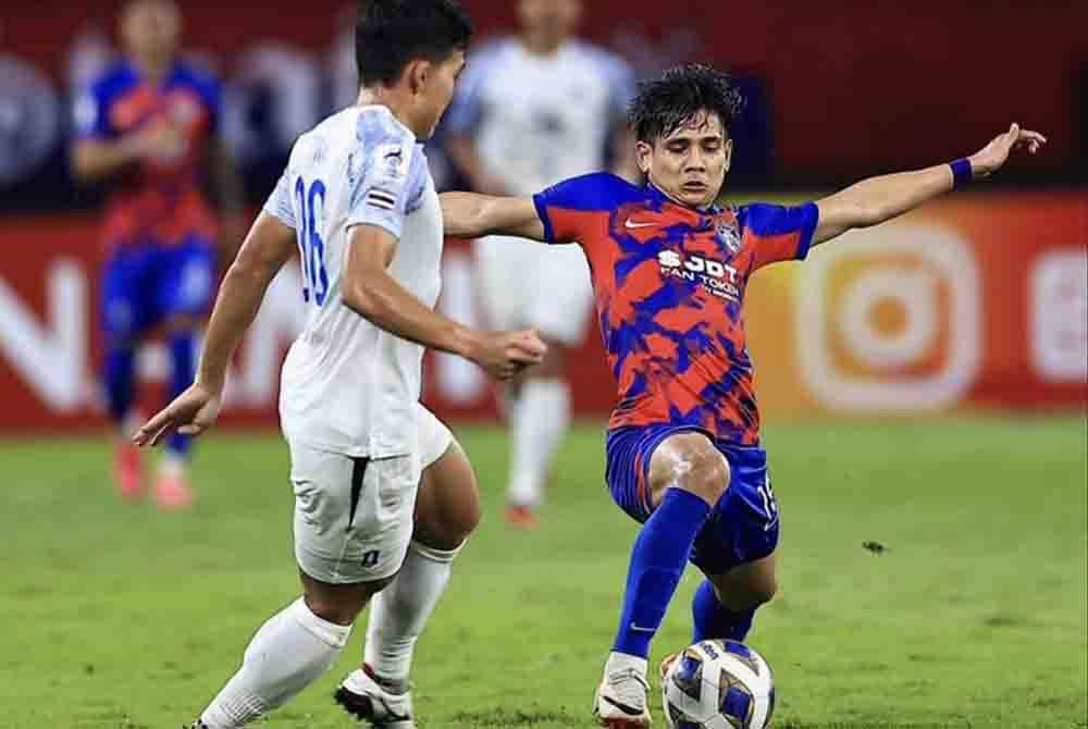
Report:
[{"label": "player in blue and red JDT kit with arms spread", "polygon": [[594,700],[606,727],[650,726],[650,642],[689,560],[706,576],[692,605],[695,641],[743,640],[777,590],[778,504],[741,314],[751,275],[989,175],[1013,148],[1035,152],[1046,143],[1014,124],[969,159],[873,177],[793,208],[733,208],[716,201],[737,106],[724,74],[673,69],[644,85],[629,112],[646,186],[602,173],[531,198],[442,196],[449,235],[578,243],[590,263],[619,385],[606,480],[644,524]]}]

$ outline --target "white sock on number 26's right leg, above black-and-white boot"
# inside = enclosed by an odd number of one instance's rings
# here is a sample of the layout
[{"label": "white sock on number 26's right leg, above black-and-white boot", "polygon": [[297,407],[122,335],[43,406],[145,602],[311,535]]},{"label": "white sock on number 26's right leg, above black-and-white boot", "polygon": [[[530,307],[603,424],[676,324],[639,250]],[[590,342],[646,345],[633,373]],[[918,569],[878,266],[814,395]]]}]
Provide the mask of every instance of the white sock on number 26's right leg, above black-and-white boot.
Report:
[{"label": "white sock on number 26's right leg, above black-and-white boot", "polygon": [[434,549],[412,542],[397,577],[370,603],[363,660],[383,682],[398,691],[408,689],[416,641],[446,591],[460,551]]}]

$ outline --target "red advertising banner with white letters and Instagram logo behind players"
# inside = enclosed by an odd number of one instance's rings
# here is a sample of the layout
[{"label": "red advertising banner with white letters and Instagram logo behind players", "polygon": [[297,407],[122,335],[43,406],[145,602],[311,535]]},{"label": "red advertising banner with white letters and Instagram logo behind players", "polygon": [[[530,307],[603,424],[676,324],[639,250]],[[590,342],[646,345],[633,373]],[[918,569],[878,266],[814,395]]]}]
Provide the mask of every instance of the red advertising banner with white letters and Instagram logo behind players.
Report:
[{"label": "red advertising banner with white letters and Instagram logo behind players", "polygon": [[[95,220],[32,217],[0,230],[0,433],[101,423],[96,370]],[[440,307],[483,325],[471,248],[447,246]],[[296,268],[273,283],[232,370],[226,420],[275,422],[279,369],[299,331]],[[1088,378],[1088,198],[1083,193],[957,195],[851,232],[804,263],[761,272],[746,325],[769,417],[1083,407]],[[613,405],[596,331],[571,358],[581,416]],[[139,358],[145,409],[169,362]],[[429,356],[428,404],[446,418],[495,413],[492,384]]]}]

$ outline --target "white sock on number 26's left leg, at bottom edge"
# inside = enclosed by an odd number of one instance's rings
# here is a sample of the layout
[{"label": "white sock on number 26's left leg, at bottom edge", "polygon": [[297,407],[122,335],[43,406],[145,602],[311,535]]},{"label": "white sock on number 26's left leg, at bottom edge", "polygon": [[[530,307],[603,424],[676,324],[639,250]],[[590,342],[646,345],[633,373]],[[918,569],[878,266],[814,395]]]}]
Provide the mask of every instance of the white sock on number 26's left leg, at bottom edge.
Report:
[{"label": "white sock on number 26's left leg, at bottom edge", "polygon": [[322,620],[299,597],[261,626],[200,720],[208,729],[237,729],[282,706],[332,666],[350,634],[350,626]]}]

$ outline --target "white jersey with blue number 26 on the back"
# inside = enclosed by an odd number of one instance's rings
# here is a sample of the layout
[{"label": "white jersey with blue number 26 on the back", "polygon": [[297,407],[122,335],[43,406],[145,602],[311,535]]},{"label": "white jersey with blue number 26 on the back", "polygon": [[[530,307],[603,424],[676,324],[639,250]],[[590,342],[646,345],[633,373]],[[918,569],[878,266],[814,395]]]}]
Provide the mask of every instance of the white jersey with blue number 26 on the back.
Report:
[{"label": "white jersey with blue number 26 on the back", "polygon": [[353,225],[399,238],[390,273],[428,306],[441,286],[442,210],[422,146],[385,107],[351,107],[295,143],[264,210],[298,233],[306,328],[283,366],[280,419],[293,444],[353,457],[415,453],[423,347],[343,301]]}]

